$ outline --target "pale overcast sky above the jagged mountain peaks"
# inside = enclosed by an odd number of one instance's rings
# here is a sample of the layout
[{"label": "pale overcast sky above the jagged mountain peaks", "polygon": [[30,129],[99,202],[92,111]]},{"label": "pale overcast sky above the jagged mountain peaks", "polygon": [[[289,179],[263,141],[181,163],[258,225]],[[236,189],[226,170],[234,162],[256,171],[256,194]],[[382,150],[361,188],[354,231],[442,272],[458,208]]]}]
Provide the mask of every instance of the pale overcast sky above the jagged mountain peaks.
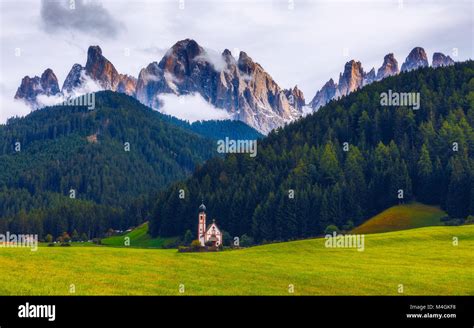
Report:
[{"label": "pale overcast sky above the jagged mountain peaks", "polygon": [[185,38],[247,52],[281,87],[297,84],[309,101],[350,59],[368,71],[393,52],[401,66],[415,46],[430,62],[434,51],[473,58],[473,3],[0,0],[0,123],[29,112],[12,101],[23,76],[49,67],[61,87],[74,63],[85,65],[89,45],[100,45],[120,73],[138,76]]}]

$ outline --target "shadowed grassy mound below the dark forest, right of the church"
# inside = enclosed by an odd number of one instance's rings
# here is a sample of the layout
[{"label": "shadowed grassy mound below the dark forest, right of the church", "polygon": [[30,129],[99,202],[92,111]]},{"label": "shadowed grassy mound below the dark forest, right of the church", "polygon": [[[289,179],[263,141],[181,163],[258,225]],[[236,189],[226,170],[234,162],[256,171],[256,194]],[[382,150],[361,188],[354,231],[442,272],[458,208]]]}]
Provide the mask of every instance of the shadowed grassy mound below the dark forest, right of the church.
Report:
[{"label": "shadowed grassy mound below the dark forest, right of the church", "polygon": [[397,205],[377,214],[352,230],[353,233],[379,233],[442,225],[446,213],[439,207],[410,203]]}]

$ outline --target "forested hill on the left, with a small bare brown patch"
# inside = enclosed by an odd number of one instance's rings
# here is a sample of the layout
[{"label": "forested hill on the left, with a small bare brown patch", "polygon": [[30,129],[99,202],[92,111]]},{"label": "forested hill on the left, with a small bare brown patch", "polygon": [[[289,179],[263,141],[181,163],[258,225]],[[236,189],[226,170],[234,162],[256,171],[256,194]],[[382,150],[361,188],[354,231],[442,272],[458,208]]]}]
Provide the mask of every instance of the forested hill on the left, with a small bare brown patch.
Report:
[{"label": "forested hill on the left, with a small bare brown patch", "polygon": [[134,212],[139,204],[215,149],[210,139],[109,91],[96,94],[94,110],[54,106],[10,119],[0,126],[0,228],[91,236],[126,228],[146,219]]}]

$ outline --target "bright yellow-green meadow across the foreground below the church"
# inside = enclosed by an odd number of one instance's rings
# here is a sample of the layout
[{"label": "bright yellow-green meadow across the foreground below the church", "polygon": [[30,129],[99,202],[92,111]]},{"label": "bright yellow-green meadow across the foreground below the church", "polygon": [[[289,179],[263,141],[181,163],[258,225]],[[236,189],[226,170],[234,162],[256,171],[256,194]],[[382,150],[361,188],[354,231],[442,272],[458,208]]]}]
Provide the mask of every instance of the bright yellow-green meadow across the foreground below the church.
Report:
[{"label": "bright yellow-green meadow across the foreground below the church", "polygon": [[[459,245],[453,246],[453,237]],[[115,247],[0,248],[1,295],[474,295],[474,225],[218,253]]]}]

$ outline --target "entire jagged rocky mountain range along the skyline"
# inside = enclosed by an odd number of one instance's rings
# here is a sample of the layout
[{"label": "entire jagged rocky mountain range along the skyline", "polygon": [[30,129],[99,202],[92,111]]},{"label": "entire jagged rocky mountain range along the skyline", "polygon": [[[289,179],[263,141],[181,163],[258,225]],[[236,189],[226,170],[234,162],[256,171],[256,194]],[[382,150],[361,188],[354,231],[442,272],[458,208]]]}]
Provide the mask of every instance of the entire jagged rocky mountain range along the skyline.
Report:
[{"label": "entire jagged rocky mountain range along the skyline", "polygon": [[[433,54],[433,67],[453,63],[449,56]],[[428,65],[425,51],[416,47],[407,56],[401,71]],[[159,62],[143,68],[137,78],[119,73],[99,46],[90,46],[85,66],[74,64],[61,89],[53,70],[48,68],[41,77],[25,76],[15,99],[39,108],[44,106],[47,97],[56,97],[59,102],[85,92],[111,90],[133,96],[159,110],[163,107],[162,95],[199,94],[210,105],[225,109],[232,119],[266,134],[303,116],[306,106],[318,110],[332,99],[399,72],[392,53],[384,57],[377,72],[375,68],[365,72],[359,61],[351,60],[344,65],[339,81],[330,79],[307,104],[298,86],[280,87],[247,53],[241,51],[236,58],[225,49],[216,54],[194,40],[185,39],[173,45]]]}]

